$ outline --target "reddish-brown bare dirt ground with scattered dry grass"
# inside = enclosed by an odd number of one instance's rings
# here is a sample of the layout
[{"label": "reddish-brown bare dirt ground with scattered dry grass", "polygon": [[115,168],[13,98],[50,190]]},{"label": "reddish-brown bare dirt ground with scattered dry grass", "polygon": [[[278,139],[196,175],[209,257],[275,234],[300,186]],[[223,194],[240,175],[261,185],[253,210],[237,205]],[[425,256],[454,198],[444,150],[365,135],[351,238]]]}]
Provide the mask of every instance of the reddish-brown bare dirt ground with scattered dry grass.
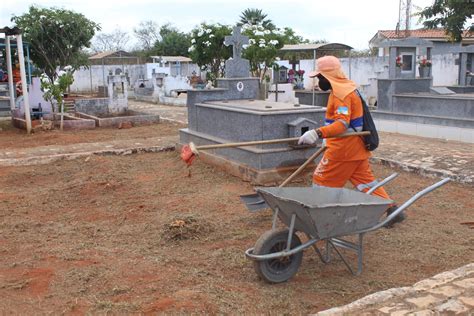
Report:
[{"label": "reddish-brown bare dirt ground with scattered dry grass", "polygon": [[[54,141],[176,128],[76,132]],[[3,133],[0,144],[11,146],[53,141],[47,133]],[[374,172],[381,178],[393,170]],[[402,173],[387,189],[403,202],[435,181]],[[472,186],[449,183],[410,207],[404,223],[365,237],[362,275],[308,250],[293,279],[269,285],[244,256],[271,227],[270,211],[251,214],[239,201],[251,192],[199,160],[187,169],[176,152],[0,168],[0,311],[311,313],[474,258],[474,230],[460,224],[473,219]]]}]

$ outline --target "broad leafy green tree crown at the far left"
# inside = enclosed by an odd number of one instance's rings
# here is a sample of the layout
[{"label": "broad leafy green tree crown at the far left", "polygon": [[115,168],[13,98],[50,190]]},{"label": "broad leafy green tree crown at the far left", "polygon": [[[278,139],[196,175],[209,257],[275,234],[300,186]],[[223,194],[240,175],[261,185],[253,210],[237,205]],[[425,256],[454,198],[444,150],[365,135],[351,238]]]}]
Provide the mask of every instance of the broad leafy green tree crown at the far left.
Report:
[{"label": "broad leafy green tree crown at the far left", "polygon": [[25,41],[31,44],[31,59],[48,75],[56,78],[56,69],[71,65],[73,69],[84,66],[81,51],[100,26],[84,15],[56,8],[30,6],[28,13],[13,16]]}]

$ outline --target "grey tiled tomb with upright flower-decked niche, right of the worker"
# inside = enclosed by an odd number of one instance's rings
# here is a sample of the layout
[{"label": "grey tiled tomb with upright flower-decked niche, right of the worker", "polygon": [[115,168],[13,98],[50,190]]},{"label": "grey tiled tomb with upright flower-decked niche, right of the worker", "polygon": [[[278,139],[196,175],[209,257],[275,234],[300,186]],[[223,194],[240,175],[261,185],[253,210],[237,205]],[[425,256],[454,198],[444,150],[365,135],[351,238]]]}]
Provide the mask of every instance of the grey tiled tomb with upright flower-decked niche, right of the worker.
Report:
[{"label": "grey tiled tomb with upright flower-decked niche, right of the worker", "polygon": [[377,127],[387,132],[473,143],[474,94],[432,86],[431,63],[426,62],[431,46],[419,38],[381,44],[389,49],[390,56],[388,79],[377,80],[378,104],[373,111]]}]

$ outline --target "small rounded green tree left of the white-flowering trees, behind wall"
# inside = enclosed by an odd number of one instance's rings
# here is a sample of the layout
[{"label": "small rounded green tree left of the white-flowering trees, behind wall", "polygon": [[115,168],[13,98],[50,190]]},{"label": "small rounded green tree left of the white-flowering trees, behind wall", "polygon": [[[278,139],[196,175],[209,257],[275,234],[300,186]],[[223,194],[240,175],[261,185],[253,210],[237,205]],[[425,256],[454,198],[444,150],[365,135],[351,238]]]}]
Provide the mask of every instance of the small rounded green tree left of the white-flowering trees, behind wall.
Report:
[{"label": "small rounded green tree left of the white-flowering trees, behind wall", "polygon": [[191,39],[188,34],[180,32],[170,24],[160,28],[160,41],[154,45],[154,53],[161,56],[188,56]]}]

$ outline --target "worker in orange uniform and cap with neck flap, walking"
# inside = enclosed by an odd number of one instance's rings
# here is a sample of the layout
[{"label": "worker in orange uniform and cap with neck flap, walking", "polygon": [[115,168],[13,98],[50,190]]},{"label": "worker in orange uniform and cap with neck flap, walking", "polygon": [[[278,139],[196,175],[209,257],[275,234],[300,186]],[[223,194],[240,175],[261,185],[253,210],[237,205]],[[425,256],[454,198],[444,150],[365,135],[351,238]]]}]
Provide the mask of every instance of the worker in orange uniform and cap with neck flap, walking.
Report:
[{"label": "worker in orange uniform and cap with neck flap, walking", "polygon": [[[324,56],[317,60],[317,71],[309,74],[319,79],[318,85],[329,94],[325,126],[305,132],[298,144],[314,144],[319,138],[333,137],[344,132],[362,131],[363,107],[356,84],[347,79],[341,63],[334,56]],[[359,191],[366,192],[377,184],[369,165],[370,152],[362,137],[331,138],[325,140],[327,150],[313,174],[313,183],[333,188],[342,188],[350,181]],[[390,199],[380,187],[374,195]],[[390,215],[396,210],[392,205],[387,210]],[[405,219],[403,212],[387,226]]]}]

